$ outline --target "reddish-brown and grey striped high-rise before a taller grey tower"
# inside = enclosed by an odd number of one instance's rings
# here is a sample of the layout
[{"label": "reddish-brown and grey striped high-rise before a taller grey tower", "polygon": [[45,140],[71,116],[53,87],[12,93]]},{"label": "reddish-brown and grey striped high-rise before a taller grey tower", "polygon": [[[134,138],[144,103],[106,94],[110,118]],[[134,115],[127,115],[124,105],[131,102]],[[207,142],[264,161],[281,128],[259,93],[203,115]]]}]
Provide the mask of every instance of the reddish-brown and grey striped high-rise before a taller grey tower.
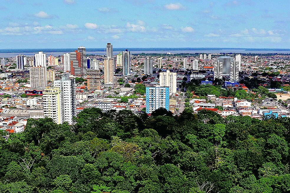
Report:
[{"label": "reddish-brown and grey striped high-rise before a taller grey tower", "polygon": [[85,75],[83,74],[83,53],[78,50],[70,52],[70,72],[74,76]]}]

